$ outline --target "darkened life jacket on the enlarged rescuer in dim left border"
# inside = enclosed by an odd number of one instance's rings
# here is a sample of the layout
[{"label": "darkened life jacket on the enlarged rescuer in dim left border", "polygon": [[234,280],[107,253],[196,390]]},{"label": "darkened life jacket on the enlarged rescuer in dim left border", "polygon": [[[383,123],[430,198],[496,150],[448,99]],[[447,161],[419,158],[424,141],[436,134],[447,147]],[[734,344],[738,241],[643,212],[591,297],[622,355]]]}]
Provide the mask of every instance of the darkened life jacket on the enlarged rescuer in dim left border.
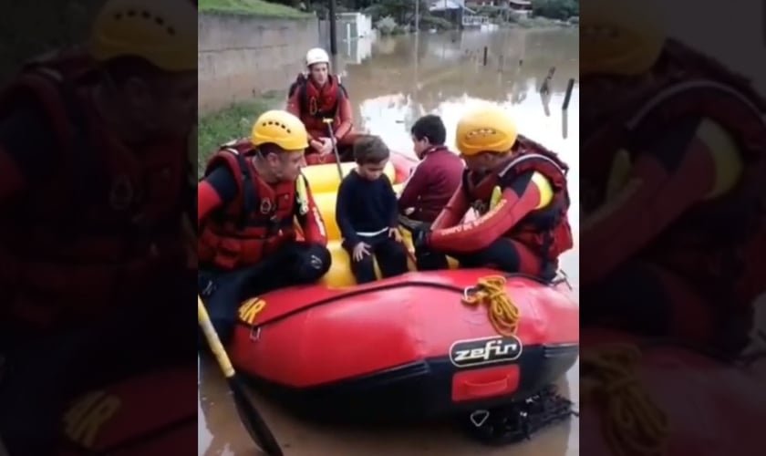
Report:
[{"label": "darkened life jacket on the enlarged rescuer in dim left border", "polygon": [[98,76],[88,57],[60,53],[26,65],[0,94],[0,116],[31,94],[60,145],[51,151],[55,174],[0,225],[0,285],[14,321],[48,326],[97,314],[185,262],[188,143],[129,150],[116,141],[91,102]]}]

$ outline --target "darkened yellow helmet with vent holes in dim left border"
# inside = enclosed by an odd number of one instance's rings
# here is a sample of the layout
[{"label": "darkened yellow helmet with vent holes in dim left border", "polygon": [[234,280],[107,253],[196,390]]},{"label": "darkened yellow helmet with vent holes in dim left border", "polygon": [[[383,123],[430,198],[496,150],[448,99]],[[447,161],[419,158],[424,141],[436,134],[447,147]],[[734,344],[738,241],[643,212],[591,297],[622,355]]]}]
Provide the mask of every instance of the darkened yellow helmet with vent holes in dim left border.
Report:
[{"label": "darkened yellow helmet with vent holes in dim left border", "polygon": [[96,17],[97,60],[141,57],[165,71],[197,69],[197,9],[189,0],[109,0]]}]

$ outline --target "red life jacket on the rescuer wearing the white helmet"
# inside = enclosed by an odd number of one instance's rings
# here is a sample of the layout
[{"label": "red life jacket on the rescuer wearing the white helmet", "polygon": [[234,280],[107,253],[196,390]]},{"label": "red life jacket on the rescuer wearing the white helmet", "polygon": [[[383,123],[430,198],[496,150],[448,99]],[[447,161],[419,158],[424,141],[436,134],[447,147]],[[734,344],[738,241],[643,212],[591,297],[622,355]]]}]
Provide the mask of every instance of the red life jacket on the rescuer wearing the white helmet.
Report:
[{"label": "red life jacket on the rescuer wearing the white helmet", "polygon": [[339,76],[330,75],[325,88],[320,91],[300,73],[288,90],[288,98],[295,94],[295,90],[298,91],[300,118],[306,130],[324,134],[327,129],[324,119],[333,119],[335,125],[340,123],[340,104],[348,98],[348,92]]}]

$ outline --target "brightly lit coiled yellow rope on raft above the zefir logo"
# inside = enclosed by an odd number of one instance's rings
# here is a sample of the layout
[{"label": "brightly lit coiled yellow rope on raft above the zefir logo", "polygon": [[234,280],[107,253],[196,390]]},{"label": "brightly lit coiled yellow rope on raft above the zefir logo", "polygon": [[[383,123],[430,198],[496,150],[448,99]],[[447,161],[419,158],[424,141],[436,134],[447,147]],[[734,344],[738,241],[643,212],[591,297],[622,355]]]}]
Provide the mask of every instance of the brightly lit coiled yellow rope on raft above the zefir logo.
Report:
[{"label": "brightly lit coiled yellow rope on raft above the zefir logo", "polygon": [[481,277],[474,287],[473,295],[466,295],[462,302],[468,306],[487,306],[487,315],[495,331],[501,336],[513,336],[519,329],[521,313],[505,292],[505,277],[488,275]]}]

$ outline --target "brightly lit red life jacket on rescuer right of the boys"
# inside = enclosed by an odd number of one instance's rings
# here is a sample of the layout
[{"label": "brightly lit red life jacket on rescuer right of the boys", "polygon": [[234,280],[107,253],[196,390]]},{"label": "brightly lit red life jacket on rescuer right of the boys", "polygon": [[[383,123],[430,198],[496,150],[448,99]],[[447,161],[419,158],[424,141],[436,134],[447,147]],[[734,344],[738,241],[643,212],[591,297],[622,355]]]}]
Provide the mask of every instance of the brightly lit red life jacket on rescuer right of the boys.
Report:
[{"label": "brightly lit red life jacket on rescuer right of the boys", "polygon": [[[572,228],[567,211],[570,199],[566,188],[566,173],[569,167],[553,151],[522,135],[516,140],[516,151],[512,160],[497,173],[494,185],[481,185],[471,181],[471,173],[463,173],[463,186],[471,206],[479,213],[490,210],[492,192],[495,186],[502,190],[512,185],[520,175],[536,171],[542,174],[554,190],[553,201],[542,209],[530,212],[511,230],[505,233],[515,241],[538,252],[543,261],[558,264],[558,257],[574,246]],[[481,188],[480,188],[481,187]]]}]

